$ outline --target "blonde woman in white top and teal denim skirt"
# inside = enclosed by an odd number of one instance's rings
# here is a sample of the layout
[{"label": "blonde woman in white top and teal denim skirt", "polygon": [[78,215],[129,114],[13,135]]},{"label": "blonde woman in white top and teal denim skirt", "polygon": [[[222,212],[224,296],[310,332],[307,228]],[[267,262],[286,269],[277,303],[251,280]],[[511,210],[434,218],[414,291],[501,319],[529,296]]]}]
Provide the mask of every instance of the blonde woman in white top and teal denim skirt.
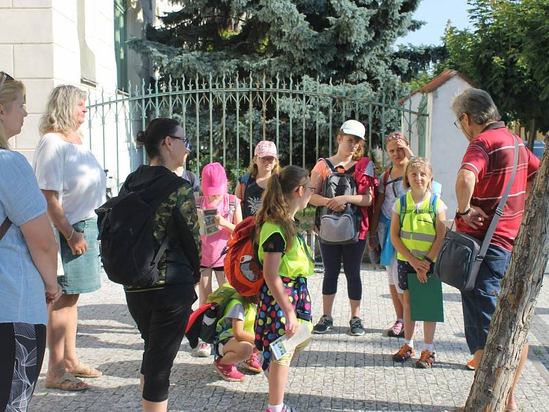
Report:
[{"label": "blonde woman in white top and teal denim skirt", "polygon": [[105,202],[106,178],[93,153],[82,144],[78,131],[86,119],[87,93],[69,85],[56,87],[40,118],[40,135],[34,157],[38,186],[47,201],[47,214],[60,233],[64,275],[58,277],[63,295],[49,312],[49,365],[46,387],[65,391],[87,388],[82,380],[98,378],[100,371],[76,355],[76,303],[80,293],[100,288],[97,216]]}]

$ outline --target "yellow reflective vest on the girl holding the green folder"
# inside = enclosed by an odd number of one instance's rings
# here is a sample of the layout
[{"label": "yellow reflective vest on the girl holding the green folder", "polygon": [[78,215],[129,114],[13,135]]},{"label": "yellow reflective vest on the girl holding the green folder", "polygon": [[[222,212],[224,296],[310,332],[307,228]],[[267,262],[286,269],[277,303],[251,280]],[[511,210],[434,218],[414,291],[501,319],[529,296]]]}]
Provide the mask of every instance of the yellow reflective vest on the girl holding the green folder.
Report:
[{"label": "yellow reflective vest on the girl holding the green folder", "polygon": [[[406,249],[412,253],[419,260],[423,260],[431,250],[434,239],[436,238],[435,222],[436,211],[440,207],[441,199],[432,199],[433,194],[421,202],[419,209],[416,209],[414,199],[412,198],[412,192],[406,193],[404,199],[404,211],[401,213],[401,200],[397,200],[397,210],[399,212],[401,226],[400,226],[400,240],[406,246]],[[432,200],[436,200],[434,205]],[[403,216],[404,213],[404,216]],[[408,260],[404,258],[401,253],[397,253],[397,259]]]}]

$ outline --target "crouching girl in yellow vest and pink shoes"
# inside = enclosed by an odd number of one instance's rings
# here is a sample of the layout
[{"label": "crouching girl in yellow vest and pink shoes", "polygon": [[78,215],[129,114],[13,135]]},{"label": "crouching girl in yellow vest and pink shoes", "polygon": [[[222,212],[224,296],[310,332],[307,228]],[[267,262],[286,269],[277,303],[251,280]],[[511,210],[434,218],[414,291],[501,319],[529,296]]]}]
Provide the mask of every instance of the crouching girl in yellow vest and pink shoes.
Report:
[{"label": "crouching girl in yellow vest and pink shoes", "polygon": [[257,295],[242,297],[235,292],[225,306],[223,317],[215,328],[215,361],[213,367],[224,380],[244,380],[235,367],[261,372],[261,363],[254,347],[254,321],[257,314]]}]

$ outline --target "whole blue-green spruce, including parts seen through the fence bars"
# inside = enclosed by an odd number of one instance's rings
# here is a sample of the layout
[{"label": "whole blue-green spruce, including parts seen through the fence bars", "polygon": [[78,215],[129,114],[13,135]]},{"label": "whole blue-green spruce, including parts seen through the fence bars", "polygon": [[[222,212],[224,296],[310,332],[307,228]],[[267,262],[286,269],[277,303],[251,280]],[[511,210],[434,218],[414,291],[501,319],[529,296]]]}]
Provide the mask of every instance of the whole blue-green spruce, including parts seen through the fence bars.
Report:
[{"label": "whole blue-green spruce, including parts seen through the fence bars", "polygon": [[[148,27],[147,39],[130,42],[141,54],[149,56],[161,73],[161,82],[172,79],[194,79],[196,73],[206,78],[213,76],[239,75],[247,81],[248,73],[254,73],[261,81],[263,75],[274,79],[277,75],[305,85],[307,90],[322,93],[358,96],[362,99],[392,103],[404,93],[406,86],[401,76],[411,76],[418,67],[425,66],[430,50],[401,47],[395,53],[393,44],[399,36],[421,26],[412,19],[413,12],[421,0],[174,0],[179,9],[161,16],[161,27]],[[421,60],[416,66],[410,59]],[[298,98],[281,98],[280,135],[287,137],[290,130],[288,107],[298,118],[303,111]],[[311,113],[316,102],[307,102],[305,125],[292,124],[292,132],[301,137],[303,128],[307,141],[316,133],[316,122]],[[328,106],[331,102],[320,102],[320,145],[324,153],[329,122]],[[248,110],[242,106],[242,113]],[[234,111],[234,109],[231,109]],[[237,124],[233,111],[226,117],[228,133],[236,128],[242,130],[241,138],[247,139],[249,129],[244,119]],[[253,122],[266,119],[267,135],[272,138],[274,106],[269,102],[266,114],[254,107]],[[351,109],[347,114],[351,116]],[[356,114],[356,113],[355,113]],[[212,148],[219,159],[221,137],[220,110],[214,107]],[[338,127],[340,118],[333,113],[332,128]],[[356,114],[358,116],[358,114]],[[207,113],[201,113],[207,119]],[[187,134],[195,132],[196,125],[187,117]],[[336,120],[337,119],[337,120]],[[364,113],[362,113],[364,119]],[[396,126],[397,113],[386,113],[386,128]],[[202,121],[201,121],[202,123]],[[381,131],[379,116],[373,122],[375,144]],[[200,124],[200,130],[206,129]],[[261,138],[262,130],[253,129],[253,142]],[[206,130],[205,130],[205,133]],[[332,134],[335,136],[335,133]],[[207,135],[205,135],[207,137]],[[292,143],[297,163],[301,154],[301,139]],[[246,145],[248,146],[248,145]],[[202,150],[202,148],[201,148]],[[247,148],[241,146],[242,158],[246,159]],[[283,162],[288,163],[288,145],[279,148]],[[307,150],[307,162],[314,162],[314,150]],[[200,159],[200,163],[202,159]]]}]

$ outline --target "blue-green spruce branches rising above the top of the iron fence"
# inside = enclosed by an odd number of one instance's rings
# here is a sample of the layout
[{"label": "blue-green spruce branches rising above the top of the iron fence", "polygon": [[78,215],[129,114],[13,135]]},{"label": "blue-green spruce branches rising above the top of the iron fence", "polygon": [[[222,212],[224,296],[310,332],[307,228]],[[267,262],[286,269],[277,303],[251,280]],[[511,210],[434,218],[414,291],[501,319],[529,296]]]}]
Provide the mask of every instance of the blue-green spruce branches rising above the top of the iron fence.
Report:
[{"label": "blue-green spruce branches rising above the top of the iron fence", "polygon": [[[369,82],[399,90],[393,44],[421,22],[419,0],[180,0],[180,10],[135,41],[163,74],[253,71]],[[406,60],[397,56],[399,69]]]}]

